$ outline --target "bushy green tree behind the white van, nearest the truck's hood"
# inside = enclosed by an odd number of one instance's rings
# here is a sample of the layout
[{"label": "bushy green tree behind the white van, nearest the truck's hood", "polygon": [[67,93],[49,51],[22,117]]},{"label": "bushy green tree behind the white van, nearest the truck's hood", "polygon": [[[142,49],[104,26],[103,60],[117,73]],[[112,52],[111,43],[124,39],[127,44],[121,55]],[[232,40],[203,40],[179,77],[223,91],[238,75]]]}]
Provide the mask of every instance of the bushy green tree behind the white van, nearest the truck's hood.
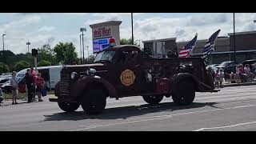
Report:
[{"label": "bushy green tree behind the white van, nearest the truck's hood", "polygon": [[78,54],[75,52],[75,47],[72,42],[59,42],[54,46],[54,53],[57,62],[62,62],[63,64],[78,62]]}]

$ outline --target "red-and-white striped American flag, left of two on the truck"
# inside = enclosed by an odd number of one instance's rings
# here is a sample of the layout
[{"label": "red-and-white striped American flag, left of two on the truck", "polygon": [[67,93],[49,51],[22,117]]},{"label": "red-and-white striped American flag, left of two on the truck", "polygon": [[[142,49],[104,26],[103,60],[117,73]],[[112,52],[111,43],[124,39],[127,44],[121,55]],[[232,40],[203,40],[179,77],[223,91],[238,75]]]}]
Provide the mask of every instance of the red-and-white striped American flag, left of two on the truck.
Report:
[{"label": "red-and-white striped American flag, left of two on the truck", "polygon": [[197,42],[198,34],[195,34],[195,37],[186,44],[186,46],[182,47],[182,50],[178,53],[179,58],[188,58],[190,56],[190,52],[194,49],[194,46]]}]

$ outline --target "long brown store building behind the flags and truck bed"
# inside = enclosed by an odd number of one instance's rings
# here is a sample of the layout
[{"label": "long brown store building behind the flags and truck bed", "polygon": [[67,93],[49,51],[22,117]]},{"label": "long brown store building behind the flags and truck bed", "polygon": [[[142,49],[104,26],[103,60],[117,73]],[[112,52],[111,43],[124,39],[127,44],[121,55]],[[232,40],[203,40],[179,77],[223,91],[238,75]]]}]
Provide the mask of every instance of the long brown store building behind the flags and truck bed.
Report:
[{"label": "long brown store building behind the flags and truck bed", "polygon": [[[202,57],[202,51],[207,39],[198,40],[196,47],[191,53],[191,57]],[[160,44],[164,42],[161,47]],[[170,43],[169,45],[166,45]],[[179,52],[188,42],[176,42],[176,38],[166,38],[160,40],[144,41],[144,48],[148,48],[154,54],[161,54],[161,51],[176,50]],[[162,50],[164,49],[164,50]],[[236,61],[243,62],[247,59],[256,58],[256,31],[246,31],[235,33]],[[215,43],[215,50],[209,57],[210,64],[221,63],[234,60],[234,34],[230,33],[227,37],[218,37]]]}]

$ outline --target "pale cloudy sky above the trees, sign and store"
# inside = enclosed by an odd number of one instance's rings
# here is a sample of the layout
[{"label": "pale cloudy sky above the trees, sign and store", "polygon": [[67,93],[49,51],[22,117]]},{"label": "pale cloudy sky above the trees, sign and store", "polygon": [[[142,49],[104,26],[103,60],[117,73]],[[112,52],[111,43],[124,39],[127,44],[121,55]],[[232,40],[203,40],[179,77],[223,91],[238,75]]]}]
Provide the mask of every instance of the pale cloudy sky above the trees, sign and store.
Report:
[{"label": "pale cloudy sky above the trees, sign and store", "polygon": [[[236,31],[256,30],[255,19],[256,13],[235,14]],[[80,55],[79,28],[86,27],[85,46],[90,46],[91,54],[92,36],[89,25],[109,20],[122,21],[121,38],[131,37],[130,13],[1,13],[0,34],[6,34],[5,48],[15,54],[26,53],[26,42],[30,41],[31,48],[48,43],[54,46],[58,42],[74,42]],[[135,40],[177,38],[178,42],[189,41],[196,33],[198,39],[206,39],[218,29],[222,30],[219,36],[227,36],[233,32],[232,13],[134,14]]]}]

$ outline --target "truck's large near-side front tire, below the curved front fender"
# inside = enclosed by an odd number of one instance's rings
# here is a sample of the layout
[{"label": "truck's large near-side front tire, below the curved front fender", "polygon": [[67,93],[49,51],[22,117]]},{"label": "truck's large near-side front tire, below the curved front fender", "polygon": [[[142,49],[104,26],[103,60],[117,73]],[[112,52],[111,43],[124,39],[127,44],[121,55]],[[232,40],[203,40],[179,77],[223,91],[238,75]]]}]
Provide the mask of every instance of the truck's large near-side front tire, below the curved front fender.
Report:
[{"label": "truck's large near-side front tire, below the curved front fender", "polygon": [[106,94],[102,89],[87,89],[81,105],[86,114],[100,114],[106,107]]}]

